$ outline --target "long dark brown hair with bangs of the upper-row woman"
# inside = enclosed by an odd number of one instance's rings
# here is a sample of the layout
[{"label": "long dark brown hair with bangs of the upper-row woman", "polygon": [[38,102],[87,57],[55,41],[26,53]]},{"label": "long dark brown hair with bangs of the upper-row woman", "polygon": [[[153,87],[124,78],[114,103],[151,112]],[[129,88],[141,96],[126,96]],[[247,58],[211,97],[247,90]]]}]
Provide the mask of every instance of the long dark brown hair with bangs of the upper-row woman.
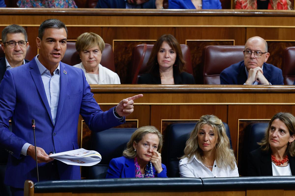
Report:
[{"label": "long dark brown hair with bangs of the upper-row woman", "polygon": [[185,61],[183,60],[182,51],[180,44],[173,35],[162,35],[155,42],[152,52],[150,53],[150,58],[147,63],[147,68],[149,73],[155,76],[160,76],[159,64],[158,64],[158,52],[163,44],[167,42],[168,45],[176,52],[175,66],[173,66],[173,74],[180,74],[184,71]]}]

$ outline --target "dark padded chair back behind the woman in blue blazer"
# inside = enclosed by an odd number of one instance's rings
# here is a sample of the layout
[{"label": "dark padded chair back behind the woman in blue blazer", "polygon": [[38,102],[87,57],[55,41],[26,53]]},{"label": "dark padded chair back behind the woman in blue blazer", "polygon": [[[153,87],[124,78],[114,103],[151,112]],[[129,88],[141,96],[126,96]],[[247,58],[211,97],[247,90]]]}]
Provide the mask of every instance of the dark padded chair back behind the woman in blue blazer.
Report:
[{"label": "dark padded chair back behind the woman in blue blazer", "polygon": [[137,128],[111,128],[91,134],[91,150],[101,154],[101,162],[89,168],[90,179],[106,177],[109,162],[113,158],[121,157],[127,142]]}]

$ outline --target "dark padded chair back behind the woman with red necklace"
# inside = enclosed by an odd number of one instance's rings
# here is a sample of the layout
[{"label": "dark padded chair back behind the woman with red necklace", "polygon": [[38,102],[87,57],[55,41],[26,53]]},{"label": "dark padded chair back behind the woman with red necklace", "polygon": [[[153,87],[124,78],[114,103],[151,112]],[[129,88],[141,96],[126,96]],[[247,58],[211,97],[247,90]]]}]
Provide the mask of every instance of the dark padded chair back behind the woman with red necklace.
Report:
[{"label": "dark padded chair back behind the woman with red necklace", "polygon": [[268,123],[252,123],[245,129],[244,144],[242,152],[242,168],[239,168],[240,175],[247,174],[247,158],[250,152],[259,148],[257,144],[265,135]]}]

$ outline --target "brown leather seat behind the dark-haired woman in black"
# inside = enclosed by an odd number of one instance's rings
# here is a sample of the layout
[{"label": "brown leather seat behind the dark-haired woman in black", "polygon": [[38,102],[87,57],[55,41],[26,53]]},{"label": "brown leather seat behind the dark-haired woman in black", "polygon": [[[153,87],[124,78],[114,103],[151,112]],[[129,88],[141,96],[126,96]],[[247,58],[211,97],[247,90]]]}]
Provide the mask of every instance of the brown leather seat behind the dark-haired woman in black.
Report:
[{"label": "brown leather seat behind the dark-haired woman in black", "polygon": [[[153,49],[152,44],[140,44],[137,45],[132,50],[132,84],[137,84],[137,79],[139,76],[146,73],[148,70],[147,63],[150,58],[150,53]],[[193,74],[193,68],[191,66],[191,51],[189,46],[185,44],[180,44],[183,59],[186,62],[185,71]]]}]

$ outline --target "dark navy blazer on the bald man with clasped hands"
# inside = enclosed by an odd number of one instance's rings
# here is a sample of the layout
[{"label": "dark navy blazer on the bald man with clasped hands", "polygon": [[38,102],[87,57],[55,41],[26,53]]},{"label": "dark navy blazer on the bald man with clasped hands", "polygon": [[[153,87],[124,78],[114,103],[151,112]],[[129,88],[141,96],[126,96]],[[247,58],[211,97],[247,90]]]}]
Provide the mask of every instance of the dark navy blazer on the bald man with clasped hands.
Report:
[{"label": "dark navy blazer on the bald man with clasped hands", "polygon": [[[283,85],[283,74],[280,68],[268,63],[263,63],[263,76],[272,85]],[[244,84],[248,77],[245,71],[244,61],[235,63],[225,68],[220,73],[220,84]]]}]

